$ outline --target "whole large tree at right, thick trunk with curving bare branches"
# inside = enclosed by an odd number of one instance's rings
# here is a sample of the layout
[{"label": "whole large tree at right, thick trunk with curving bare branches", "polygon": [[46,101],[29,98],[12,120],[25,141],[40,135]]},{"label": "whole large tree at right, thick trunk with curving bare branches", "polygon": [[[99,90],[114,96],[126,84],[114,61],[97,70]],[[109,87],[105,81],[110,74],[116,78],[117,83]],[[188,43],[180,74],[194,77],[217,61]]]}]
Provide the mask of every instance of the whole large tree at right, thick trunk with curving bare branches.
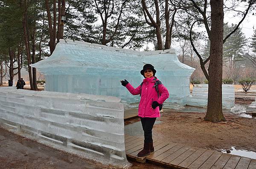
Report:
[{"label": "whole large tree at right, thick trunk with curving bare branches", "polygon": [[[223,112],[222,112],[222,55],[223,55],[223,43],[239,28],[239,25],[242,23],[246,17],[249,9],[255,3],[255,0],[249,0],[247,9],[242,12],[243,17],[240,22],[237,24],[236,28],[230,32],[225,38],[223,38],[223,18],[224,18],[224,3],[223,0],[210,0],[211,6],[211,15],[210,15],[210,26],[207,16],[207,0],[200,1],[196,3],[194,0],[190,0],[192,5],[198,10],[202,18],[196,18],[190,27],[190,42],[193,47],[193,50],[200,59],[201,69],[204,72],[207,80],[209,81],[208,85],[208,104],[207,104],[207,113],[204,118],[205,121],[220,122],[225,121]],[[201,9],[203,6],[203,10]],[[193,44],[192,38],[192,28],[195,23],[202,22],[206,28],[208,38],[210,40],[210,53],[209,57],[203,60],[202,56],[198,53],[197,49]],[[208,72],[205,68],[206,63],[209,61]],[[209,74],[208,74],[209,73]]]}]

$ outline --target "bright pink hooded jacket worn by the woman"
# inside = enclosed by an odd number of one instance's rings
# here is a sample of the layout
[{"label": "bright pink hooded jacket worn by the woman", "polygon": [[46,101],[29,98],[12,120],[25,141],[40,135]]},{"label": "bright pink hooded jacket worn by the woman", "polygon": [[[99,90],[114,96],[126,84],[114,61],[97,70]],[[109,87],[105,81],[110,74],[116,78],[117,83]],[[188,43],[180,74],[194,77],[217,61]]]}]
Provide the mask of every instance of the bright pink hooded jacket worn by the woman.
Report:
[{"label": "bright pink hooded jacket worn by the woman", "polygon": [[[163,85],[158,85],[159,95],[161,96],[159,98],[157,97],[157,91],[155,87],[153,87],[154,82],[156,81],[154,78],[155,77],[143,79],[138,111],[138,116],[140,117],[160,117],[159,107],[151,109],[150,106],[152,105],[153,101],[163,104],[163,102],[169,97],[169,92]],[[126,88],[132,95],[140,94],[140,87],[141,86],[138,86],[136,89],[134,89],[130,83],[126,85]]]}]

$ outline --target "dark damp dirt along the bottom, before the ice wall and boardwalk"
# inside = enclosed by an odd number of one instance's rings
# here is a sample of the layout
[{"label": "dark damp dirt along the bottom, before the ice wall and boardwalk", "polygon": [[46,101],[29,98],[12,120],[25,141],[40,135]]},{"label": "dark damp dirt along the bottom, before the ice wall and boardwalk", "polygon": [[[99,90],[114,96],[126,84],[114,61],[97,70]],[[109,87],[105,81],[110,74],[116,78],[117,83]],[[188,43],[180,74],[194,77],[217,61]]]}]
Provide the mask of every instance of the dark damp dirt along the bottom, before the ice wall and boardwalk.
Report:
[{"label": "dark damp dirt along the bottom, before the ice wall and boardwalk", "polygon": [[[130,161],[131,169],[166,169]],[[53,149],[0,128],[0,169],[118,169]]]}]

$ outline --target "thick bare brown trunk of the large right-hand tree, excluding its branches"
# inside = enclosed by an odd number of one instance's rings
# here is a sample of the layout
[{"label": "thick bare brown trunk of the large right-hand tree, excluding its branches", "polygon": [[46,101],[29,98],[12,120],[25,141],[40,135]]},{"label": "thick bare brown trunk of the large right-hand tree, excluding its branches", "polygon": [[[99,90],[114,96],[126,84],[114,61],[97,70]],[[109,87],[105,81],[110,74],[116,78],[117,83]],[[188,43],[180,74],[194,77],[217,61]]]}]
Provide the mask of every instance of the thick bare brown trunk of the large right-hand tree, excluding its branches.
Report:
[{"label": "thick bare brown trunk of the large right-hand tree, excluding its branches", "polygon": [[209,61],[208,104],[205,121],[226,121],[222,112],[223,0],[210,0],[211,44]]}]

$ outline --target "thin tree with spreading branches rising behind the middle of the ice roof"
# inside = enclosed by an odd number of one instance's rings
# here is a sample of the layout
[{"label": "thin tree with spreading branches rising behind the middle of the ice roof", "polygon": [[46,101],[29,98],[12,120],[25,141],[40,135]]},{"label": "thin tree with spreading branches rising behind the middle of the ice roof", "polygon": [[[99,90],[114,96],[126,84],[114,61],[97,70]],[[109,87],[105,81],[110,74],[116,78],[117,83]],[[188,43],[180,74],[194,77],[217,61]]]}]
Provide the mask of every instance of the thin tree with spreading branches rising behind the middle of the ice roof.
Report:
[{"label": "thin tree with spreading branches rising behind the middle of the ice roof", "polygon": [[[141,48],[148,38],[140,7],[131,0],[94,0],[101,25],[96,27],[99,43],[119,48]],[[95,40],[97,41],[97,39]]]}]

